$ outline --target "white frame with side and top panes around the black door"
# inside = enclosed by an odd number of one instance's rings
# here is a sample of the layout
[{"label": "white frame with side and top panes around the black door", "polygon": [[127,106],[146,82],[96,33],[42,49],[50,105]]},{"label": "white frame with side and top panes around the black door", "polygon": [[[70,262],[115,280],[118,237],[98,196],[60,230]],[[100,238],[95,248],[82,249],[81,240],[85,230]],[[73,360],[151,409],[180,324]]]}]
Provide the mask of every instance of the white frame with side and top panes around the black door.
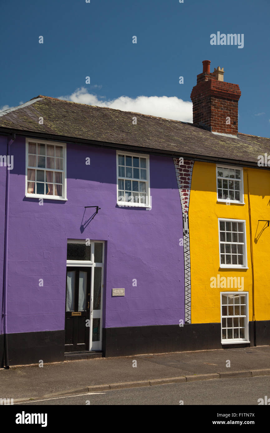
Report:
[{"label": "white frame with side and top panes around the black door", "polygon": [[[68,239],[68,243],[82,243],[85,244],[85,240],[77,240],[77,239]],[[94,262],[94,244],[102,243],[102,263]],[[67,260],[68,266],[78,266],[91,268],[91,296],[90,296],[90,327],[89,327],[89,348],[88,350],[101,350],[102,348],[102,309],[103,309],[103,288],[104,288],[104,241],[93,240],[90,241],[91,245],[91,261],[88,260]],[[92,306],[94,305],[94,268],[101,268],[101,306],[100,310],[93,310]],[[100,318],[100,340],[92,341],[93,336],[93,319]]]}]

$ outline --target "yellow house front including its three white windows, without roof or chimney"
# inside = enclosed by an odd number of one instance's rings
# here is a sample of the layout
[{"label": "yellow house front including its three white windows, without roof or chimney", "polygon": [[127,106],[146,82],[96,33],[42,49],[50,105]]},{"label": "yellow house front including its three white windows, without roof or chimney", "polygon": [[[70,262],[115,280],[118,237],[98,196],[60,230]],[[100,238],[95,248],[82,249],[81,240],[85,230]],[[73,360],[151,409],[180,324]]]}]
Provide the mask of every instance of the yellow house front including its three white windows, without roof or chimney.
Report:
[{"label": "yellow house front including its three white windows, without roof or chimney", "polygon": [[[229,183],[234,195],[240,187],[239,203],[226,195],[230,190],[218,188]],[[191,323],[222,322],[222,343],[249,342],[248,321],[270,320],[269,218],[270,171],[195,162],[189,204]]]}]

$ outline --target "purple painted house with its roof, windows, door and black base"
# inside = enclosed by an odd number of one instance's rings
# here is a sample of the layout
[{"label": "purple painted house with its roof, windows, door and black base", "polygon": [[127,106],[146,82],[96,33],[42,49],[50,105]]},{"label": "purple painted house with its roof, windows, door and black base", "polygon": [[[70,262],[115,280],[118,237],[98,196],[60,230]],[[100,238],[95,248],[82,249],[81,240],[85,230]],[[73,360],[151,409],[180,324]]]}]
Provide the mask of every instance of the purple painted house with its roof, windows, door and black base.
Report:
[{"label": "purple painted house with its roof, windows, door and black base", "polygon": [[0,113],[2,366],[180,349],[179,151],[159,144],[163,123],[177,124],[40,96]]}]

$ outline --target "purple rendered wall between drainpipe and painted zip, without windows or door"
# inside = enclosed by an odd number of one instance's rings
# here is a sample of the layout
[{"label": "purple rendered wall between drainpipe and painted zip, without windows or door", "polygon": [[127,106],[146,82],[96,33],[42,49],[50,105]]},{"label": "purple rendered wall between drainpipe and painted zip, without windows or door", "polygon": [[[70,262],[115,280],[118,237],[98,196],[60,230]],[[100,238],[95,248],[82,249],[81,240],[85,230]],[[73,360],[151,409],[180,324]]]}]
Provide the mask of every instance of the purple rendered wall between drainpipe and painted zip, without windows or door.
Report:
[{"label": "purple rendered wall between drainpipe and painted zip, without windows or door", "polygon": [[[103,327],[184,319],[182,209],[172,158],[150,155],[151,210],[119,208],[116,151],[67,145],[68,201],[39,206],[25,197],[25,139],[17,137],[12,147],[8,332],[64,329],[67,239],[107,242]],[[81,233],[84,207],[97,205],[101,210]],[[92,213],[87,209],[84,221]],[[125,297],[113,298],[112,288],[125,288]]]}]

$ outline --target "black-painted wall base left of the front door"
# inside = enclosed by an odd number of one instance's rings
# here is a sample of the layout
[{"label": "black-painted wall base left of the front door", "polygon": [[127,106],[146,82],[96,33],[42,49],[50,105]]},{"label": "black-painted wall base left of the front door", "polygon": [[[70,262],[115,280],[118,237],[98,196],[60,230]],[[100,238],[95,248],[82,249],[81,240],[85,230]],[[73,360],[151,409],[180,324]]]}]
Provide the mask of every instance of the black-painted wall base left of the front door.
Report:
[{"label": "black-painted wall base left of the front door", "polygon": [[[3,335],[0,335],[0,366],[4,367]],[[8,334],[10,365],[64,361],[65,331]]]}]

